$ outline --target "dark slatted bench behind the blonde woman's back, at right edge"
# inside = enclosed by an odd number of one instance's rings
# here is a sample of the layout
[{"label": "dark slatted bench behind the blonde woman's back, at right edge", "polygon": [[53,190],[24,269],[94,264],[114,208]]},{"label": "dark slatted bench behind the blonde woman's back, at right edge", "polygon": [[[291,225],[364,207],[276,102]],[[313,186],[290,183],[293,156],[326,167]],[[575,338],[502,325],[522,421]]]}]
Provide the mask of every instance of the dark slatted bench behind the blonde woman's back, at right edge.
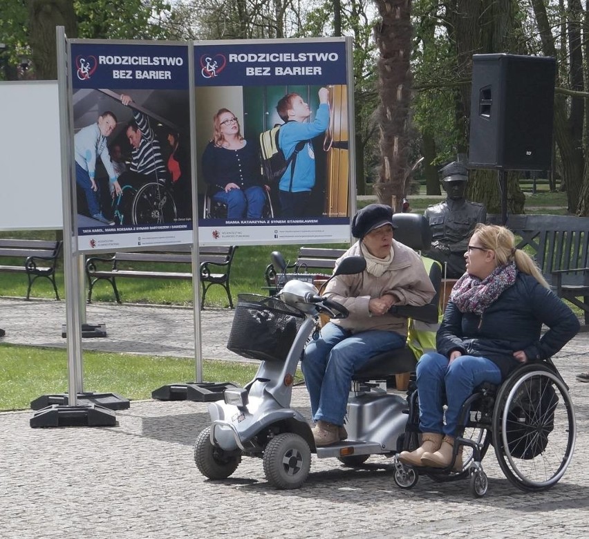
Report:
[{"label": "dark slatted bench behind the blonde woman's back, at right edge", "polygon": [[511,215],[506,225],[559,298],[583,310],[589,331],[589,217]]}]

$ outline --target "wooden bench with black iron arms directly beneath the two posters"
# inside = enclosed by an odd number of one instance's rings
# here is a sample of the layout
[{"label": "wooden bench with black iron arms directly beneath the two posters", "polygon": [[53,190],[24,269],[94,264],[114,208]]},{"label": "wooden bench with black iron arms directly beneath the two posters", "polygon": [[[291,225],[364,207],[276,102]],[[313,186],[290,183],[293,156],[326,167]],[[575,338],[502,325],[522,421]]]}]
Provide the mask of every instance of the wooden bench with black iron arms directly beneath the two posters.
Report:
[{"label": "wooden bench with black iron arms directly beneath the two posters", "polygon": [[[221,285],[227,292],[230,308],[233,300],[230,290],[230,274],[233,257],[237,247],[234,245],[214,245],[199,247],[200,284],[203,288],[200,308],[205,305],[209,287]],[[153,269],[153,264],[174,265],[171,269]],[[183,267],[184,271],[178,271]],[[86,260],[88,278],[88,303],[92,301],[92,290],[98,281],[109,281],[115,292],[115,299],[122,303],[116,280],[123,277],[192,279],[192,255],[188,252],[116,252],[112,256],[92,256]]]}]

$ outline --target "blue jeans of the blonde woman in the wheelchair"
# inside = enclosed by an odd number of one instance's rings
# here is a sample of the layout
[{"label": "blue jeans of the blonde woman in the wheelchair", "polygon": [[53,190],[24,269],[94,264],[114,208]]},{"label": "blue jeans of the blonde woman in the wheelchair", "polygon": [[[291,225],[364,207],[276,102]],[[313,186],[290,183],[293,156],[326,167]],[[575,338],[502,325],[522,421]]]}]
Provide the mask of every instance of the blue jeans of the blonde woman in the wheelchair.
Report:
[{"label": "blue jeans of the blonde woman in the wheelchair", "polygon": [[[438,352],[422,355],[417,366],[419,419],[422,433],[456,436],[460,408],[483,382],[501,384],[501,370],[486,357],[460,356],[449,365]],[[446,401],[446,402],[445,402]],[[444,410],[446,424],[443,424]]]}]

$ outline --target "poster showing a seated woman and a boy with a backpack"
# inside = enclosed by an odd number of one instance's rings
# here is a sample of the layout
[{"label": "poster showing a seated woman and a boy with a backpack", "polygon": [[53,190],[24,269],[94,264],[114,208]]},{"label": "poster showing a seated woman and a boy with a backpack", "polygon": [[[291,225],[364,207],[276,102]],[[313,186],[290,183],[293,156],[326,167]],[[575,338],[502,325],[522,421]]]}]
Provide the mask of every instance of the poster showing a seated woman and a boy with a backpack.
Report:
[{"label": "poster showing a seated woman and a boy with a backpack", "polygon": [[348,38],[194,44],[201,245],[349,241],[350,62]]}]

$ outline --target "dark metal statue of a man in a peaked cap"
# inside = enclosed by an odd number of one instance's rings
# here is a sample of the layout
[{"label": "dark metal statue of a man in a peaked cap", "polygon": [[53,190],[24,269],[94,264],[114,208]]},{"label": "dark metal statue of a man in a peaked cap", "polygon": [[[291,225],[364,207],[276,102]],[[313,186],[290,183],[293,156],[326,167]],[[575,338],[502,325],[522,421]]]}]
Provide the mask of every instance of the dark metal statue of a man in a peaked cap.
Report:
[{"label": "dark metal statue of a man in a peaked cap", "polygon": [[432,233],[431,249],[425,254],[445,267],[447,277],[457,279],[466,271],[468,240],[477,223],[487,220],[487,210],[478,202],[466,200],[468,171],[464,164],[451,162],[440,173],[447,198],[424,211]]}]

